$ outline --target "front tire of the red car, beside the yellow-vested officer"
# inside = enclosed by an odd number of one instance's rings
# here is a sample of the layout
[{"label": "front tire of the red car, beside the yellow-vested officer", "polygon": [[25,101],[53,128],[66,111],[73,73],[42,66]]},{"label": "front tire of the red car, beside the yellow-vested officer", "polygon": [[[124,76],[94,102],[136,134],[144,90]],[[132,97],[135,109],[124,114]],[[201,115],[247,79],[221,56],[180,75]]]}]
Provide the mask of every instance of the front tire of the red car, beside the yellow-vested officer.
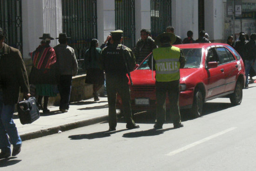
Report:
[{"label": "front tire of the red car, beside the yellow-vested officer", "polygon": [[191,108],[191,113],[195,118],[200,117],[202,115],[202,106],[202,92],[200,90],[196,90],[194,93],[193,105]]}]

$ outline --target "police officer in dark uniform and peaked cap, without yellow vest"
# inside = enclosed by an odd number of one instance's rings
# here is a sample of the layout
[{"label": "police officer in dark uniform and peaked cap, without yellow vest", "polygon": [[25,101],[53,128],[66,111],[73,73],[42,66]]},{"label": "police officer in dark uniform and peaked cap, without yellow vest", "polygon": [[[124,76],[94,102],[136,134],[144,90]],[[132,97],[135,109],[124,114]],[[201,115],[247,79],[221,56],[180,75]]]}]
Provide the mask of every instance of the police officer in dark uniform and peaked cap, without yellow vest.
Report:
[{"label": "police officer in dark uniform and peaked cap, without yellow vest", "polygon": [[[121,96],[123,104],[124,117],[126,119],[126,128],[139,128],[132,119],[131,97],[128,86],[128,70],[133,71],[136,65],[135,56],[131,49],[121,45],[122,30],[111,32],[110,45],[102,49],[101,64],[106,72],[106,87],[108,95],[108,124],[109,131],[115,131],[117,124],[116,118],[116,93]],[[123,56],[124,55],[124,56]],[[125,59],[125,60],[124,60]],[[126,64],[127,66],[126,67]]]}]

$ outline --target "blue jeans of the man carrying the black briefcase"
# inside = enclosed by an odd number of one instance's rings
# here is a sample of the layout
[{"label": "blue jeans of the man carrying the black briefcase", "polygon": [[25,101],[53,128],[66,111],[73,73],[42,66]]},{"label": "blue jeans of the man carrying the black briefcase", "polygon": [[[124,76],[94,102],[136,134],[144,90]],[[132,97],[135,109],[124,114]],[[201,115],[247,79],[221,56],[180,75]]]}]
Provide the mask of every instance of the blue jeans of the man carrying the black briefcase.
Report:
[{"label": "blue jeans of the man carrying the black briefcase", "polygon": [[[3,103],[3,92],[0,91],[0,149],[1,151],[11,151],[13,145],[21,145],[21,139],[16,125],[13,122],[13,112],[15,104],[5,105]],[[8,140],[10,137],[11,143]]]}]

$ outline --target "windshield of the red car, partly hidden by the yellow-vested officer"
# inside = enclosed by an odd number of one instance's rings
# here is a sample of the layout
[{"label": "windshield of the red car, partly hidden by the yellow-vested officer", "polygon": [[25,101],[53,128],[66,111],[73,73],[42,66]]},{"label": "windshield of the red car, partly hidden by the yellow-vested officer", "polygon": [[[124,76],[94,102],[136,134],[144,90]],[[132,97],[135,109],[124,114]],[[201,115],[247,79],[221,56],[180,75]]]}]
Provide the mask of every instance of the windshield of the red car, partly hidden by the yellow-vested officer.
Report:
[{"label": "windshield of the red car, partly hidden by the yellow-vested officer", "polygon": [[[184,56],[186,58],[186,63],[184,68],[199,68],[201,65],[202,59],[202,49],[200,48],[187,48],[182,49]],[[148,70],[150,69],[148,66],[148,59],[150,59],[151,55],[145,59],[141,65],[137,68],[138,70]]]}]

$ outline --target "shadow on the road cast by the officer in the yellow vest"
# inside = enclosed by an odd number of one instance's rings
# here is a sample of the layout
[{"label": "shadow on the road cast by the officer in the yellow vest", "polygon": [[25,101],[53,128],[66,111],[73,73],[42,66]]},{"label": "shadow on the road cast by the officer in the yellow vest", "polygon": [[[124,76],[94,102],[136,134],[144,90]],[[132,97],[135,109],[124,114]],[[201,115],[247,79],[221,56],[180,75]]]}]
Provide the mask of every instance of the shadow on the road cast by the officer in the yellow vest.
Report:
[{"label": "shadow on the road cast by the officer in the yellow vest", "polygon": [[163,132],[173,130],[173,129],[174,128],[167,128],[167,129],[161,129],[161,130],[150,129],[150,130],[139,131],[139,132],[128,132],[128,133],[123,134],[123,137],[125,137],[125,138],[138,138],[138,137],[155,136],[155,135],[160,135]]}]

